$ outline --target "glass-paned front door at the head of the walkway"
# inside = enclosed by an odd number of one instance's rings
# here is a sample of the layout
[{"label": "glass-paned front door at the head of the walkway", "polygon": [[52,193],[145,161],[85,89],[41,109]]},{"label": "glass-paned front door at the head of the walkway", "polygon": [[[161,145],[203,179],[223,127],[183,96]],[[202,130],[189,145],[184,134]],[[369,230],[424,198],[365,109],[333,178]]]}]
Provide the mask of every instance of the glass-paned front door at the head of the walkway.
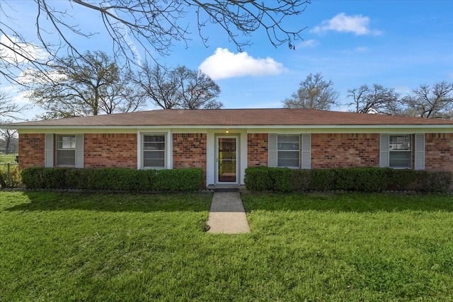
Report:
[{"label": "glass-paned front door at the head of the walkway", "polygon": [[217,137],[216,182],[237,184],[238,182],[238,137]]}]

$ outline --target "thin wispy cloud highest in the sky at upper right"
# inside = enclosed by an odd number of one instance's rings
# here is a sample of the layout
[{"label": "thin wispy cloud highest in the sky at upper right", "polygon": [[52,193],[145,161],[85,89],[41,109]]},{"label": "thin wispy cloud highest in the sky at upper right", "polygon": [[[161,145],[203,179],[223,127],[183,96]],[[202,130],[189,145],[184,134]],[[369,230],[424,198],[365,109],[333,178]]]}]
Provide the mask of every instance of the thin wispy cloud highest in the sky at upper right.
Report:
[{"label": "thin wispy cloud highest in the sky at upper right", "polygon": [[369,17],[362,15],[347,16],[345,13],[338,13],[330,20],[324,20],[321,25],[316,26],[311,33],[324,33],[328,30],[340,33],[355,33],[355,35],[380,35],[379,30],[369,28]]}]

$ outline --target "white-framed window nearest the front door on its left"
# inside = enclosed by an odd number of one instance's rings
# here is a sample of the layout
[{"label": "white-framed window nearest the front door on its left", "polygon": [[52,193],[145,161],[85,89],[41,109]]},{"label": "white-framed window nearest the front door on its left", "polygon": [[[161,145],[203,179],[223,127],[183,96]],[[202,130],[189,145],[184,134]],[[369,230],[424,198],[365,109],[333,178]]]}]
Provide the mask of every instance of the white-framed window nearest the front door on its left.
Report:
[{"label": "white-framed window nearest the front door on its left", "polygon": [[165,168],[165,135],[143,136],[143,167]]}]

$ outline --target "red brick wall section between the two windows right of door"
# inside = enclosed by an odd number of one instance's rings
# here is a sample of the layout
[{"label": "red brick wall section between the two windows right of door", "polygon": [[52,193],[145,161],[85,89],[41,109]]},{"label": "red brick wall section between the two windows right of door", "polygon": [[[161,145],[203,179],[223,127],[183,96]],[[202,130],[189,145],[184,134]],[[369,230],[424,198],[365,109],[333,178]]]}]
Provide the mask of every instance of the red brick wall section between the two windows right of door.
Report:
[{"label": "red brick wall section between the two windows right of door", "polygon": [[311,168],[379,167],[379,134],[311,134]]}]

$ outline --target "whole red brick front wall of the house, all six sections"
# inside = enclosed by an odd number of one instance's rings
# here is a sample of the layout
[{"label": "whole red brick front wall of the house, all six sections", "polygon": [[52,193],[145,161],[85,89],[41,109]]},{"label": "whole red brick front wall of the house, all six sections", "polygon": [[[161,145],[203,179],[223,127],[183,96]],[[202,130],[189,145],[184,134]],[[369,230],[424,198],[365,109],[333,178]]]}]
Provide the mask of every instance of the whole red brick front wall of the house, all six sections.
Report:
[{"label": "whole red brick front wall of the house, all six sections", "polygon": [[[207,134],[173,134],[173,168],[207,175]],[[45,134],[19,134],[19,168],[45,165]],[[247,166],[268,165],[268,134],[247,134]],[[379,166],[379,134],[311,134],[311,168]],[[137,168],[137,134],[84,134],[85,168]],[[425,134],[425,169],[453,171],[453,134]],[[204,184],[205,185],[205,184]]]}]

